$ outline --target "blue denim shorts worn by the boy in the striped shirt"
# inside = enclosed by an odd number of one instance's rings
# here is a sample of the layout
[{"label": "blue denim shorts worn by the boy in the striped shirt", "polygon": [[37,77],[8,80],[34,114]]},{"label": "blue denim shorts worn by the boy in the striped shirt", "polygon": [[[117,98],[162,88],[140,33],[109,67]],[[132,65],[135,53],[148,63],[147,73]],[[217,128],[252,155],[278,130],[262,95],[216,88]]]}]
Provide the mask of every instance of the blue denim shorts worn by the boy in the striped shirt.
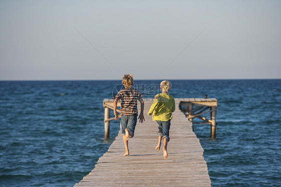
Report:
[{"label": "blue denim shorts worn by the boy in the striped shirt", "polygon": [[120,122],[121,122],[122,135],[125,135],[125,128],[127,128],[132,132],[132,136],[130,137],[133,137],[136,120],[137,120],[137,114],[121,115]]}]

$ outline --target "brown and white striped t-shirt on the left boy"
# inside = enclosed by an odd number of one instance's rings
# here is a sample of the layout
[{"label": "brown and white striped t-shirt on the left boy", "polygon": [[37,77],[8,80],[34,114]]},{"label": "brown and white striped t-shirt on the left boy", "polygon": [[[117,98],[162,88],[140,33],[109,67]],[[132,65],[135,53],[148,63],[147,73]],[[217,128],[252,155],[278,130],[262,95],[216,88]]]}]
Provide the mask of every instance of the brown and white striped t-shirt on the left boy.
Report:
[{"label": "brown and white striped t-shirt on the left boy", "polygon": [[142,101],[142,95],[134,88],[124,88],[118,91],[115,98],[121,99],[121,114],[137,114],[137,100]]}]

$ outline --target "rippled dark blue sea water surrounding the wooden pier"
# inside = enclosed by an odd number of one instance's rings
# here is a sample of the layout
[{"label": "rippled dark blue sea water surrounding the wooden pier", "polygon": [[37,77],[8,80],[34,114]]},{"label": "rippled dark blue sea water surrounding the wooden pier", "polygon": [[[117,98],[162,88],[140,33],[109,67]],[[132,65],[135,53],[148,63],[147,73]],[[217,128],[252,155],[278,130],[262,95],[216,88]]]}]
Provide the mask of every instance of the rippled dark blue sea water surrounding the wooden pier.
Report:
[{"label": "rippled dark blue sea water surrounding the wooden pier", "polygon": [[[281,186],[281,79],[171,82],[174,97],[218,100],[216,138],[209,125],[194,124],[212,186]],[[102,100],[119,83],[0,81],[0,186],[81,180],[117,135],[111,121],[103,138]]]}]

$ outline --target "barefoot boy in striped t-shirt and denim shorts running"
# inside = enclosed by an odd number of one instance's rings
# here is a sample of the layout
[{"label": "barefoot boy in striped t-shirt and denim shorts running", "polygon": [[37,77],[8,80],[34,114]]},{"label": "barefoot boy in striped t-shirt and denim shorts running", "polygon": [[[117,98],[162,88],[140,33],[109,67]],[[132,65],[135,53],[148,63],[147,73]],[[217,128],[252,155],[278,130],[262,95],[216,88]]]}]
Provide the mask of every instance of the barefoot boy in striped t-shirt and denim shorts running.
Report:
[{"label": "barefoot boy in striped t-shirt and denim shorts running", "polygon": [[133,84],[133,78],[131,74],[124,74],[122,77],[122,84],[125,86],[124,89],[118,91],[113,102],[113,111],[115,118],[118,120],[118,112],[116,112],[117,101],[121,99],[121,131],[125,145],[124,156],[129,155],[128,139],[133,137],[134,128],[137,121],[137,100],[140,102],[140,114],[138,116],[139,122],[143,122],[143,107],[144,102],[140,92],[134,88],[131,88]]}]

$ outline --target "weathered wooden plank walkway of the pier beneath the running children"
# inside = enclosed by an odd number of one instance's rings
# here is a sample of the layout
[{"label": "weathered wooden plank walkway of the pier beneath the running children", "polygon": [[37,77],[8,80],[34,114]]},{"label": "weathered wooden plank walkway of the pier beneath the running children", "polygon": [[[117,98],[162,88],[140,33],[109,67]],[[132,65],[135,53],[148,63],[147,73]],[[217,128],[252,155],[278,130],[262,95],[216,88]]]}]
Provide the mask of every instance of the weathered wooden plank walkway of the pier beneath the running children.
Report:
[{"label": "weathered wooden plank walkway of the pier beneath the running children", "polygon": [[137,122],[134,137],[128,142],[130,155],[123,156],[119,132],[94,169],[74,186],[211,186],[203,148],[191,123],[178,109],[179,101],[175,99],[167,159],[162,147],[155,150],[158,125],[146,115],[152,103],[146,101],[145,121]]}]

